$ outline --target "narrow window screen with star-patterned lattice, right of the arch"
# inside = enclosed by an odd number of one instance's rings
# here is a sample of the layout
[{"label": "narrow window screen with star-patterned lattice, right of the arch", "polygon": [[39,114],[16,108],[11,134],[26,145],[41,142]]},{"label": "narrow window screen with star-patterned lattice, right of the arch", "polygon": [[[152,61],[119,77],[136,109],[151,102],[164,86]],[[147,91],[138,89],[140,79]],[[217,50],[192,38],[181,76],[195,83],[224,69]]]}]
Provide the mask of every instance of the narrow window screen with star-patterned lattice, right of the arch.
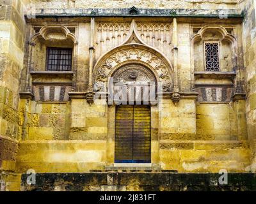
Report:
[{"label": "narrow window screen with star-patterned lattice, right of the arch", "polygon": [[220,71],[219,43],[205,43],[206,71]]}]

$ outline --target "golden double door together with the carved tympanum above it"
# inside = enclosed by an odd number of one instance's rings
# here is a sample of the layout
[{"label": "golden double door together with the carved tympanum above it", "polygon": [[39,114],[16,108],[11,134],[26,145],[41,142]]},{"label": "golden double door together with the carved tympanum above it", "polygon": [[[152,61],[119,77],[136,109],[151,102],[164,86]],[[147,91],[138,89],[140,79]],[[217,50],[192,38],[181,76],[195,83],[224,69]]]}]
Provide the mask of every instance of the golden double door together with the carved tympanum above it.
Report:
[{"label": "golden double door together with the carved tympanum above it", "polygon": [[115,163],[151,163],[150,100],[156,101],[156,78],[139,64],[117,69],[112,78],[114,95],[126,91],[123,98],[113,96],[117,103]]}]

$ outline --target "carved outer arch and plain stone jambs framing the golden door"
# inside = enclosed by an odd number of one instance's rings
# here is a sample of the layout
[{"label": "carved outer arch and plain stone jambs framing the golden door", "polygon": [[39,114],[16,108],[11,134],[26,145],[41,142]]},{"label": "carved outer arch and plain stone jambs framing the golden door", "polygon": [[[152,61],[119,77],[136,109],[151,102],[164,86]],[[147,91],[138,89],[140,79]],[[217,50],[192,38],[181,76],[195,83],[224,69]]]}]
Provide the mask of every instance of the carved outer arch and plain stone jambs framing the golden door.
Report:
[{"label": "carved outer arch and plain stone jambs framing the golden door", "polygon": [[[133,68],[128,69],[128,66],[132,66]],[[113,48],[113,50],[102,55],[93,68],[93,92],[95,92],[95,96],[99,98],[99,101],[105,103],[106,100],[108,103],[108,138],[106,154],[108,163],[106,166],[109,168],[112,166],[132,166],[130,164],[115,163],[115,115],[116,109],[118,109],[118,105],[120,104],[113,103],[114,101],[111,101],[111,97],[109,97],[109,92],[111,92],[109,91],[111,90],[109,89],[109,80],[113,77],[118,79],[118,76],[121,77],[122,75],[126,75],[130,84],[134,83],[134,81],[140,81],[140,75],[137,77],[136,75],[134,76],[134,73],[127,74],[127,71],[132,72],[139,67],[140,71],[143,72],[143,75],[146,73],[146,76],[151,77],[152,81],[157,82],[157,101],[154,101],[153,104],[150,101],[151,163],[134,164],[134,166],[159,165],[159,105],[161,105],[163,94],[171,94],[173,92],[174,73],[172,64],[163,54],[161,54],[161,52],[152,47],[140,43],[128,43]],[[127,68],[127,70],[124,71],[124,68]],[[120,73],[124,73],[117,75],[119,71]],[[123,78],[121,77],[121,79]],[[117,83],[119,81],[120,80],[117,80]],[[161,88],[158,89],[158,87]],[[127,105],[129,105],[129,103],[127,103]],[[136,105],[136,103],[132,105]],[[122,145],[120,147],[122,147]]]}]

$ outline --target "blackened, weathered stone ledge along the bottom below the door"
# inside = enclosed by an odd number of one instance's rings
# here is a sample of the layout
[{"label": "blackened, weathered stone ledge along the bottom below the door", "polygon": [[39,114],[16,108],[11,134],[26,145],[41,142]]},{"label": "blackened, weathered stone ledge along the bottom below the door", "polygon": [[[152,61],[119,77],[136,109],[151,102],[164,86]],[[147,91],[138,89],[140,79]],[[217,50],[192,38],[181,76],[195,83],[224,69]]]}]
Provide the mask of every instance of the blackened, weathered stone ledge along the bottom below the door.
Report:
[{"label": "blackened, weathered stone ledge along the bottom below the door", "polygon": [[256,191],[255,173],[38,173],[36,184],[22,175],[21,191]]}]

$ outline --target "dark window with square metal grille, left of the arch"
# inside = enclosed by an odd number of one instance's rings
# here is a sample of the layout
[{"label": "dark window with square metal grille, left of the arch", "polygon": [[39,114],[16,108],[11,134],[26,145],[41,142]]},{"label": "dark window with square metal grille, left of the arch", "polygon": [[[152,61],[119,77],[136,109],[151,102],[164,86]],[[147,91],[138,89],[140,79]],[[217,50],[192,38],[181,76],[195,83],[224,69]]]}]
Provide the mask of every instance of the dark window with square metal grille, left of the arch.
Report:
[{"label": "dark window with square metal grille, left of the arch", "polygon": [[72,48],[47,48],[47,71],[71,71]]}]

